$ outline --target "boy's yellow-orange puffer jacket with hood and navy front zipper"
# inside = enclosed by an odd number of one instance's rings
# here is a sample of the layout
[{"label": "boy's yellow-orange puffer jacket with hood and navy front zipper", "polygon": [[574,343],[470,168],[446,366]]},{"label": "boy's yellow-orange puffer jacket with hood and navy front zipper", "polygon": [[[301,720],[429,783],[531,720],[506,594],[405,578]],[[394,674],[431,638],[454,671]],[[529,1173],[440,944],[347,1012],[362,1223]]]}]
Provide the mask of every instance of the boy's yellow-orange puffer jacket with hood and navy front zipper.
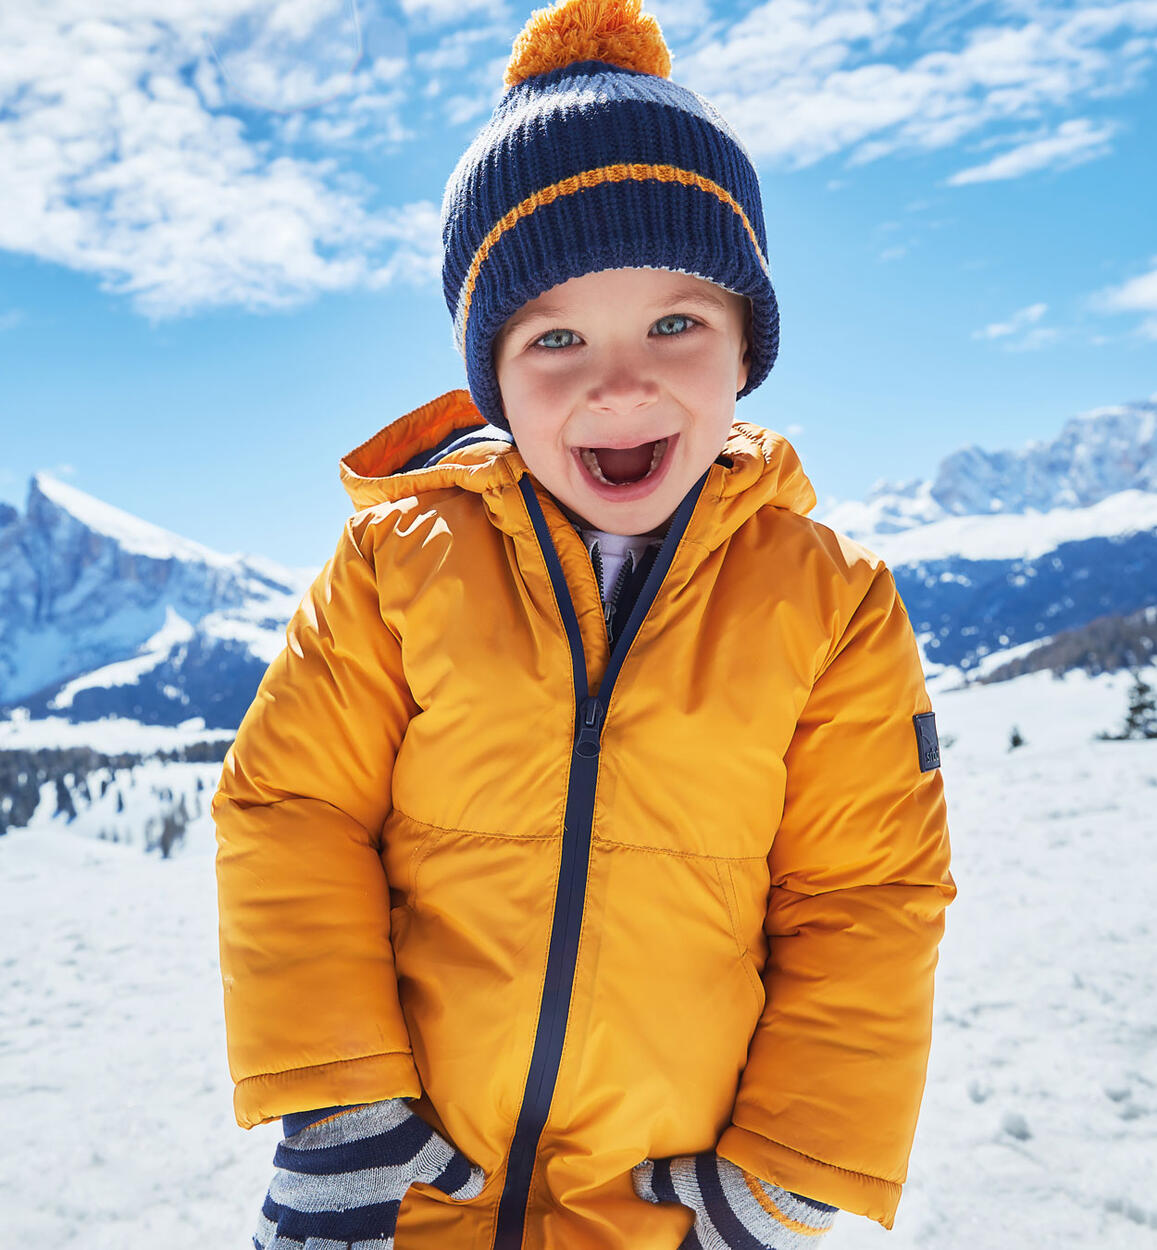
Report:
[{"label": "boy's yellow-orange puffer jacket with hood and navy front zipper", "polygon": [[344,462],[225,761],[239,1122],[421,1095],[487,1181],[411,1189],[399,1250],[675,1250],[631,1168],[717,1144],[891,1225],[953,894],[891,575],[736,424],[612,655],[514,449],[399,471],[477,424],[452,391]]}]

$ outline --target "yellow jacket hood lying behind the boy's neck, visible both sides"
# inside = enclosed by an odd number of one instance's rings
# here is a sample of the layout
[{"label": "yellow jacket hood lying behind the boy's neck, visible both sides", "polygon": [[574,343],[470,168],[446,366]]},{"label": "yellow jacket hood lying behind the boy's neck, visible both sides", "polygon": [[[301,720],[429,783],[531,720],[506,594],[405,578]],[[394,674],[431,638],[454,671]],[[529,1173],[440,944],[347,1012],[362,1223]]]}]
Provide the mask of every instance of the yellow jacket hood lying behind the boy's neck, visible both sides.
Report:
[{"label": "yellow jacket hood lying behind the boy's neck, visible both sides", "polygon": [[[492,435],[492,436],[491,436]],[[391,421],[346,455],[341,481],[359,511],[429,490],[459,486],[487,496],[502,525],[526,464],[509,435],[490,426],[466,390],[452,390]],[[715,548],[760,508],[783,508],[801,516],[816,492],[795,448],[780,434],[736,421],[720,459],[711,466],[703,499],[720,506],[696,509],[688,538]],[[525,514],[522,522],[525,524]],[[521,528],[521,526],[520,526]]]}]

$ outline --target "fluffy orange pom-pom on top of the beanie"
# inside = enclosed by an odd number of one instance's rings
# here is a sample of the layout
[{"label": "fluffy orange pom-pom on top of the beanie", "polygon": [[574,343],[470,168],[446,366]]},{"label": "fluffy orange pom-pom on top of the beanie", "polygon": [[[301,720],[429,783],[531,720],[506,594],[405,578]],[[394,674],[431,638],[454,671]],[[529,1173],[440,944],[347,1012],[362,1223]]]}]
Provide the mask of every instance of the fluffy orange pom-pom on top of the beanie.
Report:
[{"label": "fluffy orange pom-pom on top of the beanie", "polygon": [[671,72],[658,22],[640,12],[641,0],[562,0],[531,14],[515,40],[507,86],[575,61],[608,61],[628,70]]}]

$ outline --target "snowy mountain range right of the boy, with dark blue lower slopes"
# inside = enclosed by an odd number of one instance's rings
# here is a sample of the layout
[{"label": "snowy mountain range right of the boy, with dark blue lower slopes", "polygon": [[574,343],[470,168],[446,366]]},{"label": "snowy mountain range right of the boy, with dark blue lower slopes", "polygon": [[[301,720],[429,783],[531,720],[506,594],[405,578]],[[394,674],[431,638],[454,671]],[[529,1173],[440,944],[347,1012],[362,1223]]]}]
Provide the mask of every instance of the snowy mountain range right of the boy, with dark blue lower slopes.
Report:
[{"label": "snowy mountain range right of the boy, with dark blue lower slopes", "polygon": [[888,561],[930,674],[985,672],[1157,604],[1157,402],[1097,409],[1020,451],[965,448],[821,519]]}]

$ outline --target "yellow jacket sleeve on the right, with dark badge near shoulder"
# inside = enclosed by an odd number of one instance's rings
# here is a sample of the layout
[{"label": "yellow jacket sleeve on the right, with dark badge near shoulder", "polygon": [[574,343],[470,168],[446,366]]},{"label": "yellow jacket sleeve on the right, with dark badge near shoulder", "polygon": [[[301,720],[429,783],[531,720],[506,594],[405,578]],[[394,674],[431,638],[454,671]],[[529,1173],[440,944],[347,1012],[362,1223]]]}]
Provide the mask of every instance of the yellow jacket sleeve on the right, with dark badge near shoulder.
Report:
[{"label": "yellow jacket sleeve on the right, with dark badge near shoulder", "polygon": [[[853,600],[855,601],[855,600]],[[956,889],[930,710],[891,574],[821,665],[786,754],[770,855],[767,1001],[718,1154],[892,1226],[923,1094],[932,980]]]}]

